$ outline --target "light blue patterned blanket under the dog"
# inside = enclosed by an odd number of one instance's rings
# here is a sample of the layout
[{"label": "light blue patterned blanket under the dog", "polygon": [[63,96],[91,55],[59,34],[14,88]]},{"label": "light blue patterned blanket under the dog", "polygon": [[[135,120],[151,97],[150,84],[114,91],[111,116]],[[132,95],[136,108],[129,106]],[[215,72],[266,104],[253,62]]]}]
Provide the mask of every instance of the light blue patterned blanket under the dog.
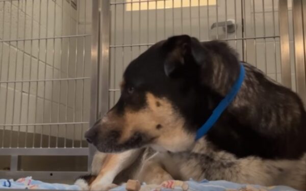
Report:
[{"label": "light blue patterned blanket under the dog", "polygon": [[[20,178],[16,181],[0,179],[0,189],[14,188],[14,189],[60,189],[60,190],[81,190],[78,185],[46,183],[39,180],[33,180],[32,177]],[[165,181],[161,185],[146,185],[142,184],[140,191],[196,191],[196,190],[209,190],[209,191],[296,191],[287,186],[271,186],[264,187],[259,185],[237,184],[223,180],[201,182],[190,181]],[[112,191],[126,191],[125,184],[113,188]]]}]

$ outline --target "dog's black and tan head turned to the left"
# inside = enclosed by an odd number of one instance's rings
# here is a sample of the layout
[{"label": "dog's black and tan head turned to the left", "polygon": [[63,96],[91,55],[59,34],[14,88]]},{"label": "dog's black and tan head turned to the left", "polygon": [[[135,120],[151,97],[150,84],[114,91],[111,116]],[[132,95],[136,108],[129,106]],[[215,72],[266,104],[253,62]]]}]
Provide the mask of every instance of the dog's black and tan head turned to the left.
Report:
[{"label": "dog's black and tan head turned to the left", "polygon": [[207,60],[205,47],[186,35],[150,47],[126,68],[118,102],[86,132],[88,142],[101,152],[190,148],[205,99],[197,92],[199,67]]}]

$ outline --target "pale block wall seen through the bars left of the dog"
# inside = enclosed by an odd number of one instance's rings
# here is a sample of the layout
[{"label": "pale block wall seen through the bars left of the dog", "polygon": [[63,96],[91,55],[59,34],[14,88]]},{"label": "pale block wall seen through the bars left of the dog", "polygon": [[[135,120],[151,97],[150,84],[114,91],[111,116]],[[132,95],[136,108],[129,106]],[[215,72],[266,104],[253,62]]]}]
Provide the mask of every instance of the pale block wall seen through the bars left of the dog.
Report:
[{"label": "pale block wall seen through the bars left of the dog", "polygon": [[[88,121],[89,79],[35,81],[90,77],[90,36],[43,39],[90,34],[91,1],[79,0],[78,8],[75,10],[66,0],[0,2],[0,80],[34,80],[9,83],[9,86],[1,83],[0,124]],[[41,40],[2,42],[39,38]],[[43,131],[41,126],[36,126],[36,133],[80,140],[87,127],[87,124],[75,128],[68,125],[66,132],[64,125],[59,126],[59,131],[56,125],[43,126]],[[20,131],[26,129],[20,126]],[[13,130],[18,130],[18,126]],[[28,132],[33,131],[34,127],[28,126]]]}]

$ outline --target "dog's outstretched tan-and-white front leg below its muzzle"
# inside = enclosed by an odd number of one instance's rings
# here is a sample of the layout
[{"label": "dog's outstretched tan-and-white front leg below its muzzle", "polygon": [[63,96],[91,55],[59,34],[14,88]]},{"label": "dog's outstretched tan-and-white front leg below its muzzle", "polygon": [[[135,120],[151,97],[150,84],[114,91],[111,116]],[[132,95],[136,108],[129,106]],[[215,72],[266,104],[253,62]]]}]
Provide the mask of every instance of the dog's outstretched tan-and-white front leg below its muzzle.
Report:
[{"label": "dog's outstretched tan-and-white front leg below its muzzle", "polygon": [[136,149],[117,154],[106,154],[104,161],[101,161],[103,164],[96,179],[90,185],[90,190],[108,190],[114,187],[112,183],[115,177],[135,161],[140,151],[141,149]]}]

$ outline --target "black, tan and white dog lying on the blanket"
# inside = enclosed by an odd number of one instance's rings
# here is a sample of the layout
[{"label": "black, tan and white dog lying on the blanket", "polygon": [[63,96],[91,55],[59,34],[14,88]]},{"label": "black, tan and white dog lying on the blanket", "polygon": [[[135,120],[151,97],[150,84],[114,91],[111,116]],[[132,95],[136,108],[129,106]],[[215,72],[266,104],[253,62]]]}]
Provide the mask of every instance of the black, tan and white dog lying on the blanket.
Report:
[{"label": "black, tan and white dog lying on the blanket", "polygon": [[[199,140],[240,75],[234,100]],[[127,66],[121,96],[85,137],[98,150],[84,189],[138,179],[227,180],[306,190],[306,112],[296,93],[238,60],[225,42],[188,35],[152,45]]]}]

